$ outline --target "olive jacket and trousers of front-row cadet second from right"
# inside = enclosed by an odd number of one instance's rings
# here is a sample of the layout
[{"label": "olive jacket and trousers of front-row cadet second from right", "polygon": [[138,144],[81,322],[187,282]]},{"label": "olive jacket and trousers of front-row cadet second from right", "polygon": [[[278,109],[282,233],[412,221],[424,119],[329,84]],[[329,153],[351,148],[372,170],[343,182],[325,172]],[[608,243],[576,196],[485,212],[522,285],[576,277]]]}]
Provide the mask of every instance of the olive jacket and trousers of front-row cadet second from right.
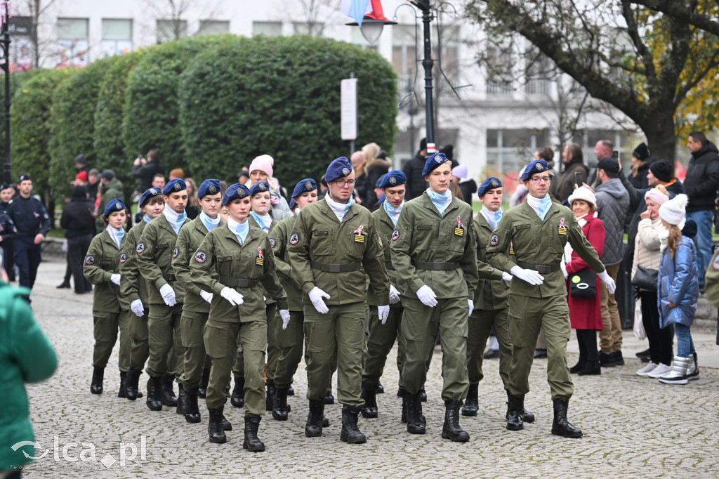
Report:
[{"label": "olive jacket and trousers of front-row cadet second from right", "polygon": [[[477,287],[477,252],[472,208],[454,196],[440,215],[429,195],[408,201],[392,234],[392,264],[404,304],[402,334],[406,360],[402,380],[416,394],[426,380],[426,360],[437,332],[442,343],[442,399],[467,397],[467,298]],[[483,274],[492,268],[484,265]],[[416,292],[422,286],[436,294],[437,305],[425,306]]]}]

